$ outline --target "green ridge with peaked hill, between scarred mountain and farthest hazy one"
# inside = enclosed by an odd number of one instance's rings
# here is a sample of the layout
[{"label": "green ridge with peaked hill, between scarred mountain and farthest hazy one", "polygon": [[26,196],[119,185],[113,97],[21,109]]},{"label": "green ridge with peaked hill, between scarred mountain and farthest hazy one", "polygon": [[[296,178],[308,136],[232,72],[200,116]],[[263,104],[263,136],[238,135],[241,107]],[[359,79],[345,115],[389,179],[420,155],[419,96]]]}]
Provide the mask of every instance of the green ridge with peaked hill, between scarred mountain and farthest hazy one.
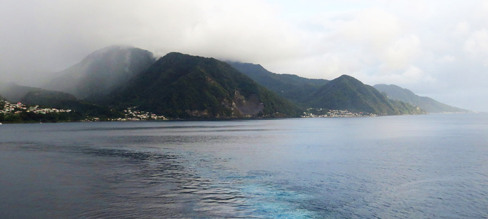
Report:
[{"label": "green ridge with peaked hill, between scarred mountain and farthest hazy one", "polygon": [[267,89],[303,108],[364,111],[379,115],[425,113],[409,104],[389,100],[376,89],[348,75],[329,81],[294,74],[271,73],[257,64],[228,63]]}]

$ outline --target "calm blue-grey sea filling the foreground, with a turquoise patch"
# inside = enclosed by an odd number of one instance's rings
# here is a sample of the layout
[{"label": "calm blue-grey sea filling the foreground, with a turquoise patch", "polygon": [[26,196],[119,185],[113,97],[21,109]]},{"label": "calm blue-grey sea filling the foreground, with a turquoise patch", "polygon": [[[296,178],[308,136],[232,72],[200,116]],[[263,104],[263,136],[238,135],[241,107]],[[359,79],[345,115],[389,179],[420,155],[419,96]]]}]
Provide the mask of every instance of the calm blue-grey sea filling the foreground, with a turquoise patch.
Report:
[{"label": "calm blue-grey sea filling the foreground, with a turquoise patch", "polygon": [[488,115],[4,124],[0,218],[488,218]]}]

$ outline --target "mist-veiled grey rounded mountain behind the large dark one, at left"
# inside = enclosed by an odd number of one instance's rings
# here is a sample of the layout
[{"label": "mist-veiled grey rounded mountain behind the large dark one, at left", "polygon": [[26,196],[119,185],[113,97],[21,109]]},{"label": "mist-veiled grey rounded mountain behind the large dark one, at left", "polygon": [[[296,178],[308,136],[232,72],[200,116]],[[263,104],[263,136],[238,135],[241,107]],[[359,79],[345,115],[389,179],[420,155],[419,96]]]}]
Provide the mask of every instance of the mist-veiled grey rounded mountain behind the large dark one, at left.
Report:
[{"label": "mist-veiled grey rounded mountain behind the large dark one, at left", "polygon": [[85,98],[104,95],[147,69],[156,59],[149,51],[128,46],[109,46],[86,56],[80,63],[58,73],[43,88]]}]

